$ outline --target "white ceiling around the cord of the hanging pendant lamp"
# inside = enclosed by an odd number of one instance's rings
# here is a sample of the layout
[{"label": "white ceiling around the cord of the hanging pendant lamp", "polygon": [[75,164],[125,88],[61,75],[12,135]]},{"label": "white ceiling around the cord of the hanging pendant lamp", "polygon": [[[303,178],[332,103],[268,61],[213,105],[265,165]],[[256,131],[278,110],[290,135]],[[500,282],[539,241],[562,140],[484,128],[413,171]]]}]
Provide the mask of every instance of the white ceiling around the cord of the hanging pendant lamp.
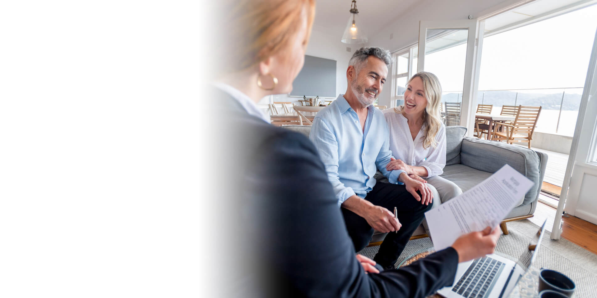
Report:
[{"label": "white ceiling around the cord of the hanging pendant lamp", "polygon": [[[344,28],[350,16],[352,0],[319,0],[316,2],[315,30],[338,36],[338,41],[344,33]],[[381,28],[396,20],[396,17],[408,10],[417,0],[357,0],[362,29],[368,38],[375,35]]]}]

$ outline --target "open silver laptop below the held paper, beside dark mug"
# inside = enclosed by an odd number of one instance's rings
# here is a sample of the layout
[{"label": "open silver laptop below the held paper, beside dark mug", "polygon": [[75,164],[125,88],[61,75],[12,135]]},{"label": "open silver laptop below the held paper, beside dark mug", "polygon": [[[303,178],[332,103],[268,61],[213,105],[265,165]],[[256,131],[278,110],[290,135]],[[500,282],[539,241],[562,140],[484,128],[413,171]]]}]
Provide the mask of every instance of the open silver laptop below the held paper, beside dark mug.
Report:
[{"label": "open silver laptop below the held paper, beside dark mug", "polygon": [[545,231],[545,223],[535,235],[534,250],[521,255],[518,262],[488,254],[479,259],[458,264],[454,284],[438,290],[438,294],[447,298],[502,298],[508,297],[522,275],[531,267],[537,257],[537,251]]}]

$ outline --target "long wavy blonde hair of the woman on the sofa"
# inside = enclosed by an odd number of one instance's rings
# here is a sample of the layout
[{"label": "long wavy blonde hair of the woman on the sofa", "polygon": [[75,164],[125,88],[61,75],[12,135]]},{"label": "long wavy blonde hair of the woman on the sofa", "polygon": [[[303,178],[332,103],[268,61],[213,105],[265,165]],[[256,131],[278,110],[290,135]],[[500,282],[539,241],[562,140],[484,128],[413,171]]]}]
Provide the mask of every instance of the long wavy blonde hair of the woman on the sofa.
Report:
[{"label": "long wavy blonde hair of the woman on the sofa", "polygon": [[[407,85],[415,77],[420,77],[423,81],[423,91],[425,92],[425,98],[427,98],[427,107],[423,111],[423,126],[425,129],[425,136],[422,140],[423,148],[427,149],[430,146],[437,148],[438,141],[435,139],[435,136],[442,127],[442,121],[439,116],[439,105],[442,102],[442,85],[439,83],[438,77],[429,72],[416,73],[408,80]],[[394,110],[396,113],[404,115],[404,105],[401,105],[401,110],[397,108],[394,108]]]}]

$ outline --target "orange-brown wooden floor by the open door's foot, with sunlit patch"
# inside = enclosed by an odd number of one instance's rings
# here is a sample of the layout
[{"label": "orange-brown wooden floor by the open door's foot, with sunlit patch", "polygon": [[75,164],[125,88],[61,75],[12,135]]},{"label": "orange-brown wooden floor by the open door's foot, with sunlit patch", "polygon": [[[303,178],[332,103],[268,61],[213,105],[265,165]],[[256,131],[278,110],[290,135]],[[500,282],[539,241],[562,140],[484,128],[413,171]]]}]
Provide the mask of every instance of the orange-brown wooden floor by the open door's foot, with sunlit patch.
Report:
[{"label": "orange-brown wooden floor by the open door's foot, with sunlit patch", "polygon": [[[543,224],[543,220],[547,219],[546,228],[550,231],[555,213],[555,208],[540,202],[531,221],[535,224]],[[564,222],[562,224],[562,238],[597,254],[597,225],[571,215],[569,218],[562,217],[562,221]]]}]

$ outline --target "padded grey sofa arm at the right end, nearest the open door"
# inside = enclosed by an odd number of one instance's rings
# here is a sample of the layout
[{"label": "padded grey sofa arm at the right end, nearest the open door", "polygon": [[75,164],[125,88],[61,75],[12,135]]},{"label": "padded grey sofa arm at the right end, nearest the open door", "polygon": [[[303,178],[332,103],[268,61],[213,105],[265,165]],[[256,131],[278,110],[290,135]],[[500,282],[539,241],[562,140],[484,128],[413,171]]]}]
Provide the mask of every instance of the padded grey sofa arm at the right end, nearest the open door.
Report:
[{"label": "padded grey sofa arm at the right end, nearest the open door", "polygon": [[536,200],[538,192],[541,191],[541,162],[537,153],[528,148],[467,137],[462,140],[460,163],[489,173],[495,173],[504,164],[509,164],[534,183],[531,190],[525,194],[522,205]]}]

